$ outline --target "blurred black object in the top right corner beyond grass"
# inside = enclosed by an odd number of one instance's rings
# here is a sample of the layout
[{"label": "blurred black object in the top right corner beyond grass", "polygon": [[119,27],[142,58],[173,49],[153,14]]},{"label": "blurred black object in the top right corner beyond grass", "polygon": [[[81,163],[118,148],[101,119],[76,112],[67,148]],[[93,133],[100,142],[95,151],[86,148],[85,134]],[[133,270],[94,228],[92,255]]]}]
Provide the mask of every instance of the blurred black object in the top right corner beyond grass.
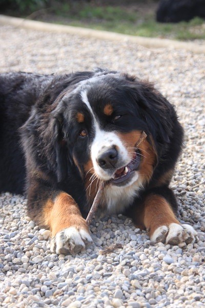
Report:
[{"label": "blurred black object in the top right corner beyond grass", "polygon": [[160,23],[188,22],[196,16],[205,18],[205,0],[161,0],[156,12]]}]

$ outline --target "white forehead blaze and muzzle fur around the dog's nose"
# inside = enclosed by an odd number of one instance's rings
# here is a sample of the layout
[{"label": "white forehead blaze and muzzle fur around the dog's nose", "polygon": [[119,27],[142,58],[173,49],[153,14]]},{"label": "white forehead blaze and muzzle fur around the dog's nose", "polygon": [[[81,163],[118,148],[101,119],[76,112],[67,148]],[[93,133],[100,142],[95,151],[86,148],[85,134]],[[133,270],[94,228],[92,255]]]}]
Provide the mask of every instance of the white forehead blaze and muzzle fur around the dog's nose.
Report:
[{"label": "white forehead blaze and muzzle fur around the dog's nose", "polygon": [[93,117],[95,137],[91,145],[91,159],[93,162],[94,170],[99,178],[103,180],[109,180],[110,175],[108,175],[107,171],[102,169],[97,163],[99,153],[103,152],[104,147],[110,148],[115,146],[118,149],[118,156],[125,160],[125,164],[130,161],[129,153],[115,132],[100,129],[96,115],[94,114],[93,109],[88,101],[86,91],[81,92],[81,99],[86,104]]}]

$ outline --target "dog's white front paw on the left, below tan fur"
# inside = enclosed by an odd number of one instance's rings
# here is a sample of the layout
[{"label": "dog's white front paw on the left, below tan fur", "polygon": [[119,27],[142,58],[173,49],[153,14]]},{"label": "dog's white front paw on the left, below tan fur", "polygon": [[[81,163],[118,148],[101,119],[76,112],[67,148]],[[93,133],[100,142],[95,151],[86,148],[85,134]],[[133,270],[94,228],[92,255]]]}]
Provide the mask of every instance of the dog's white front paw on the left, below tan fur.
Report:
[{"label": "dog's white front paw on the left, below tan fur", "polygon": [[57,255],[78,254],[92,242],[89,232],[71,226],[58,232],[51,240],[51,251]]}]

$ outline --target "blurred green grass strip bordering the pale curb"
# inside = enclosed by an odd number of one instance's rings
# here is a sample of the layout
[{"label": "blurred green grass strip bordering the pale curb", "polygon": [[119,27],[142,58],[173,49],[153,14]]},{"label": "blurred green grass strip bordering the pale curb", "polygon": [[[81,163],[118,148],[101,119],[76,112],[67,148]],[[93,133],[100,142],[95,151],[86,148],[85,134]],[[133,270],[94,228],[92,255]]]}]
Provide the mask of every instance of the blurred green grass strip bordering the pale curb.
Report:
[{"label": "blurred green grass strip bordering the pale curb", "polygon": [[[65,23],[65,22],[64,22]],[[146,37],[160,37],[172,38],[174,40],[204,40],[205,39],[205,23],[200,18],[194,18],[189,23],[181,22],[178,24],[160,24],[155,22],[154,16],[149,16],[145,20],[140,17],[136,18],[134,22],[129,20],[101,20],[99,22],[91,18],[89,21],[83,19],[69,18],[66,23],[71,26],[87,27],[96,30],[106,30],[118,33],[146,36]],[[202,27],[203,26],[203,27]]]}]

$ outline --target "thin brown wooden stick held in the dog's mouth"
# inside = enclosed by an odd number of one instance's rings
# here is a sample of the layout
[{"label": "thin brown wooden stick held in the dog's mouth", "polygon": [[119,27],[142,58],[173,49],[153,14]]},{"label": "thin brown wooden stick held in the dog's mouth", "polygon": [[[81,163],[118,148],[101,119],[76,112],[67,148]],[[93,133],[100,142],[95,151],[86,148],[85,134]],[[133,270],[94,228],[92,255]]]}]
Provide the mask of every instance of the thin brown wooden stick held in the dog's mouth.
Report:
[{"label": "thin brown wooden stick held in the dog's mouth", "polygon": [[[135,147],[138,147],[140,145],[140,143],[142,143],[142,141],[144,141],[146,139],[146,137],[147,137],[147,134],[145,133],[145,131],[142,131],[141,136],[139,137],[139,140],[135,144]],[[86,222],[87,222],[88,225],[91,224],[92,219],[95,217],[97,207],[100,203],[100,199],[103,196],[103,190],[105,188],[105,185],[106,185],[106,182],[100,181],[99,187],[98,187],[98,190],[97,190],[97,194],[95,196],[95,199],[93,201],[91,209],[90,209],[88,216],[86,218]]]}]

